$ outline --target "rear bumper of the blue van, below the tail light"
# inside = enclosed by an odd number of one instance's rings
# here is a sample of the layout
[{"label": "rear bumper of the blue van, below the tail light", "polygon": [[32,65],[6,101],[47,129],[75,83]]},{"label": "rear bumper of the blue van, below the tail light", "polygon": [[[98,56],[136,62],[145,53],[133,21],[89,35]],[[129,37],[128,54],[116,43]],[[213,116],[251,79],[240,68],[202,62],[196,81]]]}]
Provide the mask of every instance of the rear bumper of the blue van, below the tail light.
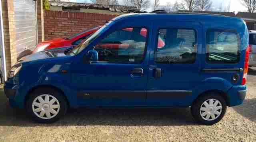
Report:
[{"label": "rear bumper of the blue van, below the tail light", "polygon": [[246,85],[233,86],[227,93],[228,106],[241,105],[246,97]]}]

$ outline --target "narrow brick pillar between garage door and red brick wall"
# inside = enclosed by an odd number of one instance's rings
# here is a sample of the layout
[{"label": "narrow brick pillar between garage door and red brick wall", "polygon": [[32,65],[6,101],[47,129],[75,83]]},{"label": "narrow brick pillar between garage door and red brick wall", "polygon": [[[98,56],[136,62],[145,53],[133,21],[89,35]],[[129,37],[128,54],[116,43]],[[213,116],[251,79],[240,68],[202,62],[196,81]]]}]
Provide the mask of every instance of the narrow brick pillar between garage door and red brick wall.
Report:
[{"label": "narrow brick pillar between garage door and red brick wall", "polygon": [[38,30],[38,43],[44,41],[44,9],[43,0],[37,0],[37,30]]}]

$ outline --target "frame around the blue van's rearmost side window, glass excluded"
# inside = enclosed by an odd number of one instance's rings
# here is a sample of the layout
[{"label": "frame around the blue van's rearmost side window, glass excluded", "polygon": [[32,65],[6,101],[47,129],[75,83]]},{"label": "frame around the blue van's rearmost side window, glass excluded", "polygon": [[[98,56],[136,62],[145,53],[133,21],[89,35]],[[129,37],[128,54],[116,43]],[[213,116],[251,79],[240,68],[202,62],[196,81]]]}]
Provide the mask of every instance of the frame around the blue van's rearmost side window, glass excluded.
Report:
[{"label": "frame around the blue van's rearmost side window, glass excluded", "polygon": [[[238,46],[240,47],[240,49],[238,50],[238,53],[239,53],[239,57],[238,57],[238,61],[236,61],[235,63],[224,63],[223,61],[222,61],[222,63],[220,62],[220,61],[208,61],[208,59],[207,59],[207,41],[208,41],[208,38],[207,38],[207,36],[208,36],[208,32],[209,31],[211,31],[212,30],[212,32],[230,32],[230,33],[234,33],[234,34],[236,34],[236,36],[237,36],[237,38],[238,38]],[[248,41],[249,42],[249,41]],[[232,64],[232,65],[236,65],[236,64],[238,64],[239,62],[240,62],[240,57],[241,57],[241,38],[240,38],[240,34],[237,32],[237,30],[235,30],[235,29],[222,29],[222,28],[208,28],[207,30],[206,30],[206,32],[205,32],[205,62],[207,63],[207,64],[222,64],[222,65],[228,65],[228,64]],[[215,63],[213,63],[213,62],[215,62]]]}]

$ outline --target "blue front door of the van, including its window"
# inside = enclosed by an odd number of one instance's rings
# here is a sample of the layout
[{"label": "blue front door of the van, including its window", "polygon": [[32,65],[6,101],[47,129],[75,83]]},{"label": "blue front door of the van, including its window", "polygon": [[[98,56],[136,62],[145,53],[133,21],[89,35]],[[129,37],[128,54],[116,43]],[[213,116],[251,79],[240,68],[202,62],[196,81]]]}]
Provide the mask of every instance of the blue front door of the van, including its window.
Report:
[{"label": "blue front door of the van, including its window", "polygon": [[148,28],[110,32],[94,45],[98,61],[72,65],[72,83],[80,106],[143,106],[148,77]]}]

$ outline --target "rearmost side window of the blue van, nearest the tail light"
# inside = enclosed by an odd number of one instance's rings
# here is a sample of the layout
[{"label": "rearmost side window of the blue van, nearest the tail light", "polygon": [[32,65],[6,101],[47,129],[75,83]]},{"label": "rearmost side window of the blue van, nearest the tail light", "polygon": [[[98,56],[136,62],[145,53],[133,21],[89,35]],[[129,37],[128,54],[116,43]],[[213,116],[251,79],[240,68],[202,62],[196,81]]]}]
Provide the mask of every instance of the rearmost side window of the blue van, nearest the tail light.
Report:
[{"label": "rearmost side window of the blue van, nearest the tail light", "polygon": [[208,30],[206,33],[206,61],[208,63],[238,63],[240,36],[231,30]]}]

